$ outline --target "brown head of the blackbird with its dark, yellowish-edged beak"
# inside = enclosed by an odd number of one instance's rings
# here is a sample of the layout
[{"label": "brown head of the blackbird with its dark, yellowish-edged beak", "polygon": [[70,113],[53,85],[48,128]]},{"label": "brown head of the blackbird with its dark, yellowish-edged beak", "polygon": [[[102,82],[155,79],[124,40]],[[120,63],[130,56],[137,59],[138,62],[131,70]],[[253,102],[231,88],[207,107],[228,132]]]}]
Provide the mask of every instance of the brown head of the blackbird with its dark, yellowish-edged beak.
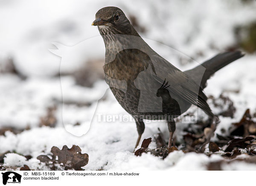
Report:
[{"label": "brown head of the blackbird with its dark, yellowish-edged beak", "polygon": [[101,35],[126,34],[131,35],[133,28],[121,9],[108,6],[100,9],[92,25],[98,26]]}]

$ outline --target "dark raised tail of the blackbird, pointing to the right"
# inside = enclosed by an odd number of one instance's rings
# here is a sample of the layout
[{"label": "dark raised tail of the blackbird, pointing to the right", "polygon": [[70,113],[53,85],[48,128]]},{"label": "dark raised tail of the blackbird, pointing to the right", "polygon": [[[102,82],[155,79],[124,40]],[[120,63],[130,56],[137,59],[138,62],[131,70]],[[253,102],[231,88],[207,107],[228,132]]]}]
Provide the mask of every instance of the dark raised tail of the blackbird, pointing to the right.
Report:
[{"label": "dark raised tail of the blackbird, pointing to the right", "polygon": [[[206,87],[206,81],[218,70],[225,67],[226,65],[230,64],[233,61],[243,57],[244,54],[241,51],[233,51],[233,52],[224,52],[214,56],[213,58],[205,61],[203,64],[191,69],[187,70],[186,73],[188,76],[192,77],[193,79],[197,80],[198,75],[202,70],[202,66],[206,69],[204,72],[204,76],[201,79],[201,88]],[[198,79],[197,82],[200,82]]]}]

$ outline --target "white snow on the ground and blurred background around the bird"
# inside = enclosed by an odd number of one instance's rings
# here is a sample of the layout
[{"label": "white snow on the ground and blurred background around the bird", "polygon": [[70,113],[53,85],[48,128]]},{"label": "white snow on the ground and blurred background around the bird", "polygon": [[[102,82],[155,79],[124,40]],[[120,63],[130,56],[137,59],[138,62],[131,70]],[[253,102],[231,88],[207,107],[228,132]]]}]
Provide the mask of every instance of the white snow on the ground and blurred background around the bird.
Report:
[{"label": "white snow on the ground and blurred background around the bird", "polygon": [[[105,6],[121,8],[152,48],[181,70],[219,52],[241,49],[246,55],[218,71],[205,92],[216,98],[224,93],[236,108],[233,118],[220,118],[217,133],[225,133],[223,129],[239,122],[247,108],[256,112],[254,0],[0,0],[3,166],[26,164],[46,170],[36,157],[49,154],[52,146],[70,148],[73,144],[89,155],[85,170],[206,170],[207,163],[222,160],[216,154],[208,157],[182,151],[169,154],[165,160],[151,154],[135,157],[132,151],[137,130],[132,121],[99,122],[94,117],[88,133],[81,136],[96,107],[99,113],[127,115],[110,91],[97,106],[107,88],[102,70],[105,48],[91,23]],[[65,54],[62,59],[60,51]],[[63,120],[68,124],[64,126]],[[181,125],[177,124],[177,139]],[[158,127],[167,139],[165,122],[146,123],[142,139],[153,137]],[[155,147],[154,141],[150,147]],[[28,155],[31,157],[23,157]],[[230,163],[223,169],[256,170],[256,164]]]}]

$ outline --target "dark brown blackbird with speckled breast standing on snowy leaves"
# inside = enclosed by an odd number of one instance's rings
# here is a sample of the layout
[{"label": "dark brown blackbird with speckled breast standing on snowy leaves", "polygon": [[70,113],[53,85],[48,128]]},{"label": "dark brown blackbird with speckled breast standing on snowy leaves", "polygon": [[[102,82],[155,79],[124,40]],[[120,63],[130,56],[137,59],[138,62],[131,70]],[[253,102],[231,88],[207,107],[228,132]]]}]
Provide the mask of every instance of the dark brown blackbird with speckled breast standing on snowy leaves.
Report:
[{"label": "dark brown blackbird with speckled breast standing on snowy leaves", "polygon": [[191,105],[207,113],[214,132],[219,120],[209,108],[203,89],[212,74],[243,56],[240,51],[218,54],[182,72],[145,43],[121,9],[100,9],[92,25],[98,26],[105,44],[105,80],[122,108],[136,121],[139,137],[135,148],[145,129],[143,119],[165,119],[171,147],[174,119]]}]

